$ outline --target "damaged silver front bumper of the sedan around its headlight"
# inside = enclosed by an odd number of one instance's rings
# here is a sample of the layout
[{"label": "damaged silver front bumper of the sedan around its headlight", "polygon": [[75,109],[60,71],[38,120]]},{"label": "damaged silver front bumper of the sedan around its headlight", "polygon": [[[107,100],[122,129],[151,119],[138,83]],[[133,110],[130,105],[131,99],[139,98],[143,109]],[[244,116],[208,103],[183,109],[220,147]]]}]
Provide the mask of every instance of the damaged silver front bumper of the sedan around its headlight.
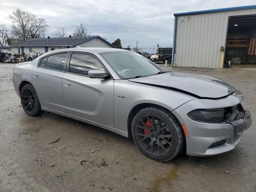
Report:
[{"label": "damaged silver front bumper of the sedan around its headlight", "polygon": [[[230,103],[232,98],[228,98],[210,102],[201,100],[203,104],[199,103],[200,100],[192,101],[173,111],[173,114],[178,118],[180,123],[186,126],[188,132],[188,136],[186,137],[186,152],[188,155],[212,156],[228,152],[234,149],[240,142],[243,131],[252,125],[252,118],[249,111],[246,111],[246,116],[243,119],[216,124],[196,122],[187,116],[187,113],[195,108],[221,108],[222,104],[222,107],[227,107],[235,106],[241,102],[241,100],[233,100],[234,103]],[[216,143],[220,144],[215,145]]]}]

